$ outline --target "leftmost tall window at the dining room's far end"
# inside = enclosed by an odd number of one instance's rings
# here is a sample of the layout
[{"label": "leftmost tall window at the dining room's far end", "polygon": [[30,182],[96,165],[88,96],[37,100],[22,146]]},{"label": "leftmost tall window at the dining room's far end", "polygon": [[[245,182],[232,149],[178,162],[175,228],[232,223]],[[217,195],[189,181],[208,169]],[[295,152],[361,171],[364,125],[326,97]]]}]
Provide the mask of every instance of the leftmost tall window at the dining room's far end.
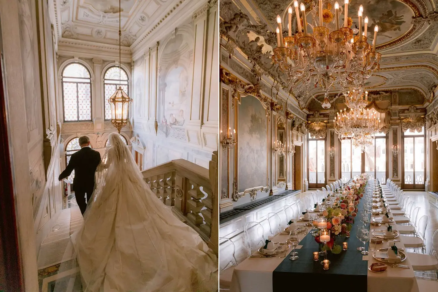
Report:
[{"label": "leftmost tall window at the dining room's far end", "polygon": [[325,186],[325,140],[313,139],[309,134],[308,151],[309,187]]}]

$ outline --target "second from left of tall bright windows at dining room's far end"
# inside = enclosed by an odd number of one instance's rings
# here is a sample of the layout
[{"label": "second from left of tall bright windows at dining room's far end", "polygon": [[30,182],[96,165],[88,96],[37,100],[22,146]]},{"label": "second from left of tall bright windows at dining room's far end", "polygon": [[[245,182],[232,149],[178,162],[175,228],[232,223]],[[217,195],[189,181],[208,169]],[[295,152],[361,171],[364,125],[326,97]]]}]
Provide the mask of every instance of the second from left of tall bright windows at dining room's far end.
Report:
[{"label": "second from left of tall bright windows at dining room's far end", "polygon": [[362,168],[360,148],[351,142],[350,139],[341,140],[341,177],[347,180],[359,176]]}]

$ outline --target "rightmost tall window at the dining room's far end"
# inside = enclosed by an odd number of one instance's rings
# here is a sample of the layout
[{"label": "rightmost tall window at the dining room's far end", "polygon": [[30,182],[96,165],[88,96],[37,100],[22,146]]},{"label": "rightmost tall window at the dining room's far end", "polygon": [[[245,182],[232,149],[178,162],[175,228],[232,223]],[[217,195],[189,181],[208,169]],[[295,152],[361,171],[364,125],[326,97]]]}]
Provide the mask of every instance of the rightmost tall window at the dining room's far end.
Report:
[{"label": "rightmost tall window at the dining room's far end", "polygon": [[424,189],[424,127],[403,132],[403,188]]}]

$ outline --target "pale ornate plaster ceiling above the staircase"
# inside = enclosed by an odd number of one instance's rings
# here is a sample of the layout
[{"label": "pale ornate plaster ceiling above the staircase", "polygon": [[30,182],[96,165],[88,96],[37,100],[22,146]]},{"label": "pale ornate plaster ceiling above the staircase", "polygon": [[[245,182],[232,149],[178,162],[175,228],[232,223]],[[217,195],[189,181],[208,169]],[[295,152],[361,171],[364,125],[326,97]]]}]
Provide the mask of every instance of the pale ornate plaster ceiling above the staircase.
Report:
[{"label": "pale ornate plaster ceiling above the staircase", "polygon": [[[58,38],[118,45],[118,0],[53,1]],[[198,2],[204,4],[196,0],[121,0],[122,46],[141,41],[182,7],[198,9]]]}]

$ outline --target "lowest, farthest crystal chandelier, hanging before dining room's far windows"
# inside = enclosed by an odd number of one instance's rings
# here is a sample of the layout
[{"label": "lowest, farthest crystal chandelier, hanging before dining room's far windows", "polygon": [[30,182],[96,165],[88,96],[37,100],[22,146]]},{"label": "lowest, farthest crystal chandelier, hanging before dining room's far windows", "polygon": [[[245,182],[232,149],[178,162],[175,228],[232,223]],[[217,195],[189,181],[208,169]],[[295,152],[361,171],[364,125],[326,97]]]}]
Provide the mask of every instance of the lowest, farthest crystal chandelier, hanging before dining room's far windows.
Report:
[{"label": "lowest, farthest crystal chandelier, hanging before dining room's far windows", "polygon": [[344,109],[337,113],[333,124],[339,140],[353,139],[353,145],[364,151],[380,128],[380,117],[375,109]]}]

